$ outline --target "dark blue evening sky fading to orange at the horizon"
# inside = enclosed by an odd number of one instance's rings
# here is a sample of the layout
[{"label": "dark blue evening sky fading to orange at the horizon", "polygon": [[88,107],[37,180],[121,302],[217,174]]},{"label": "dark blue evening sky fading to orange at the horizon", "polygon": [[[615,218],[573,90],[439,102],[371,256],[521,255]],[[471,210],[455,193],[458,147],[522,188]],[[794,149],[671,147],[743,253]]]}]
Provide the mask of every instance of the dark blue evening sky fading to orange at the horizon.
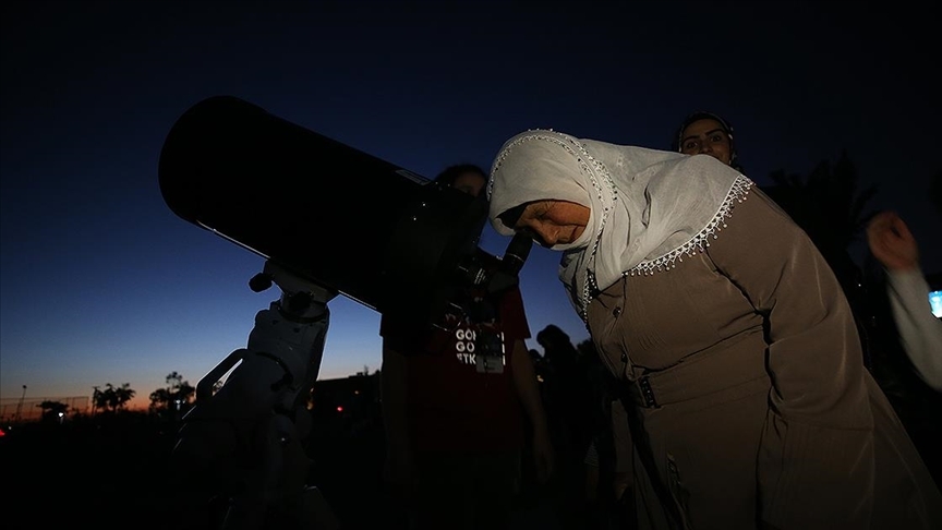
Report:
[{"label": "dark blue evening sky fading to orange at the horizon", "polygon": [[[868,209],[899,212],[926,272],[942,272],[927,198],[942,170],[938,19],[922,2],[825,3],[9,0],[0,394],[130,383],[146,403],[170,372],[195,385],[245,346],[277,298],[247,287],[264,260],[177,217],[157,179],[171,125],[216,95],[427,178],[490,168],[533,128],[666,149],[684,116],[712,110],[760,185],[846,149],[861,188],[879,185]],[[487,227],[482,246],[508,241]],[[578,342],[558,258],[531,253],[526,309],[534,336],[557,324]],[[321,377],[378,369],[378,313],[329,308]]]}]

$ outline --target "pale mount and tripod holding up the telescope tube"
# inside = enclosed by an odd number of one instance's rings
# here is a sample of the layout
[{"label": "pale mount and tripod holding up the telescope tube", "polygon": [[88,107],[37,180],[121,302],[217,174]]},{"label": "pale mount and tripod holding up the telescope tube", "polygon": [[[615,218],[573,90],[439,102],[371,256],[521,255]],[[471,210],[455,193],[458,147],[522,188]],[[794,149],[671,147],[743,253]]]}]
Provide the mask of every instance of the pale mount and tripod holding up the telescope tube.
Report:
[{"label": "pale mount and tripod holding up the telescope tube", "polygon": [[304,442],[312,427],[306,403],[329,325],[327,302],[336,292],[269,260],[249,286],[261,292],[273,284],[281,297],[255,315],[246,348],[232,351],[196,386],[174,463],[195,483],[221,490],[224,530],[335,530],[333,510],[306,484]]}]

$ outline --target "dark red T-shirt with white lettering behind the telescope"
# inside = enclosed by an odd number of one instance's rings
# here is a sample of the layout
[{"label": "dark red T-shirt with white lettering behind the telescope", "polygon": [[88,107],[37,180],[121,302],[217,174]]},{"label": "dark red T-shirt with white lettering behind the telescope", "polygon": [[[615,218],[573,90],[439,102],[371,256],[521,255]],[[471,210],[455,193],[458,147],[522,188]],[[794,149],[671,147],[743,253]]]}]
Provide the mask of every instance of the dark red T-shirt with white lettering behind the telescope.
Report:
[{"label": "dark red T-shirt with white lettering behind the telescope", "polygon": [[[406,356],[407,421],[414,450],[522,447],[522,407],[510,360],[514,342],[529,338],[530,327],[516,287],[492,304],[498,318],[476,323],[467,313],[448,315],[423,346],[400,351]],[[384,318],[383,337],[403,339],[389,327]]]}]

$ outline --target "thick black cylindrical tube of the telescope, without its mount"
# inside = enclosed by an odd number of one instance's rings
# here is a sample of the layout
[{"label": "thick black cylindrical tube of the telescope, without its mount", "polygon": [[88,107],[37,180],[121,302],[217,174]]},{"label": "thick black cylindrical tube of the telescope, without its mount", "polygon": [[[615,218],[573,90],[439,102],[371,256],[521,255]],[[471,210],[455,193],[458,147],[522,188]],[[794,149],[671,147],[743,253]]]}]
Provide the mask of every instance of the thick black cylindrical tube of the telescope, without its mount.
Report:
[{"label": "thick black cylindrical tube of the telescope, without its mount", "polygon": [[486,205],[232,96],[186,110],[160,153],[182,219],[384,314],[446,303]]}]

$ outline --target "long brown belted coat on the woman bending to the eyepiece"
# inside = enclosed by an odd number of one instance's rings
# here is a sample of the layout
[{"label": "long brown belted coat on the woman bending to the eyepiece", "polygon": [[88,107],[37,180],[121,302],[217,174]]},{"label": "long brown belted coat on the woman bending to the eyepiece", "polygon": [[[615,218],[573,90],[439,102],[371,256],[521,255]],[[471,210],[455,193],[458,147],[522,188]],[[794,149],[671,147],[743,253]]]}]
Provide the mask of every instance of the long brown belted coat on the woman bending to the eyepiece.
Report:
[{"label": "long brown belted coat on the woman bending to the eyepiece", "polygon": [[703,253],[588,308],[630,393],[619,456],[639,527],[942,529],[939,489],[814,245],[756,189],[726,222]]}]

